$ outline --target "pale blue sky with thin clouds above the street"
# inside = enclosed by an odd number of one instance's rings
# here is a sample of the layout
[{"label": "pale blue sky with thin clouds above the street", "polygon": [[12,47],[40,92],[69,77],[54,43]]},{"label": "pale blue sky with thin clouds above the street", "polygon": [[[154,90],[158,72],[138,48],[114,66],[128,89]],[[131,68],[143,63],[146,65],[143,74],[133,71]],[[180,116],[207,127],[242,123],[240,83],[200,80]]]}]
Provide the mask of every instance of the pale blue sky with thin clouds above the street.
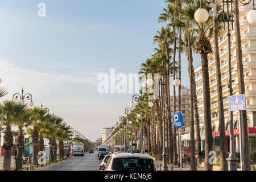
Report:
[{"label": "pale blue sky with thin clouds above the street", "polygon": [[[40,3],[46,16],[38,15]],[[137,94],[100,94],[98,75],[139,72],[154,53],[152,38],[165,26],[157,22],[165,6],[162,0],[0,1],[0,86],[6,98],[23,86],[36,106],[43,103],[94,142]],[[187,57],[181,59],[181,84],[189,86]],[[195,55],[194,67],[200,63]]]}]

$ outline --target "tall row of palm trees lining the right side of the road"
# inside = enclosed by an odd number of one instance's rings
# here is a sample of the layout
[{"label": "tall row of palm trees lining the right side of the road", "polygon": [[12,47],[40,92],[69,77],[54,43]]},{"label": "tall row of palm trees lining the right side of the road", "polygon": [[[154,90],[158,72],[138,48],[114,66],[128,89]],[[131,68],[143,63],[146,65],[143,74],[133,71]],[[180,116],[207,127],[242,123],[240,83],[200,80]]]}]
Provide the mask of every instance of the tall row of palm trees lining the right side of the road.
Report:
[{"label": "tall row of palm trees lining the right side of the road", "polygon": [[[219,1],[214,1],[217,5],[217,12],[220,11],[221,5]],[[196,170],[196,153],[197,159],[201,158],[201,138],[200,138],[200,126],[199,126],[199,113],[197,107],[197,96],[196,96],[196,83],[195,83],[195,71],[193,68],[193,53],[200,54],[201,56],[201,70],[203,73],[203,100],[204,100],[204,129],[205,129],[205,170],[212,170],[212,164],[208,163],[210,156],[209,151],[213,151],[213,137],[212,137],[212,121],[210,113],[210,89],[209,89],[209,73],[208,73],[208,55],[214,52],[216,57],[216,77],[217,77],[217,92],[218,92],[218,110],[219,110],[219,126],[220,126],[220,162],[221,170],[228,170],[228,163],[226,160],[226,142],[225,142],[225,123],[224,123],[224,109],[222,102],[222,84],[221,84],[221,72],[220,72],[220,56],[218,55],[218,38],[225,34],[226,32],[222,28],[222,14],[218,14],[214,18],[209,18],[205,23],[198,23],[194,18],[195,11],[200,7],[203,7],[207,11],[210,10],[210,7],[207,3],[200,0],[195,1],[186,1],[186,0],[167,0],[167,6],[163,9],[163,13],[159,16],[158,22],[164,22],[167,24],[166,27],[162,27],[158,31],[156,36],[154,36],[154,43],[158,44],[158,47],[155,48],[154,55],[151,55],[151,58],[147,59],[144,63],[141,64],[141,70],[139,74],[152,73],[154,75],[156,72],[155,67],[161,68],[164,66],[164,73],[160,79],[163,78],[163,90],[164,94],[160,93],[153,102],[153,106],[150,108],[147,106],[148,99],[147,97],[141,97],[143,102],[146,103],[143,108],[138,104],[135,108],[142,110],[143,112],[143,133],[146,133],[146,148],[151,154],[161,155],[163,153],[163,104],[164,99],[164,108],[166,113],[166,126],[167,126],[167,159],[168,162],[174,165],[180,163],[179,158],[176,154],[177,146],[176,135],[177,131],[172,125],[172,116],[171,116],[171,105],[170,105],[170,76],[173,76],[173,79],[176,77],[181,81],[181,53],[187,55],[188,61],[188,73],[189,73],[189,87],[190,89],[190,129],[191,129],[191,170]],[[235,1],[235,7],[238,6],[237,1]],[[238,9],[237,9],[238,11]],[[238,12],[239,13],[239,12]],[[236,13],[235,16],[239,16]],[[237,15],[238,14],[238,15]],[[236,17],[237,18],[237,17]],[[239,19],[239,18],[238,18]],[[237,25],[238,24],[238,25]],[[236,35],[240,35],[239,21],[236,21],[236,26],[238,30]],[[241,48],[241,39],[237,35],[236,45],[240,45]],[[214,38],[214,51],[210,44],[210,38]],[[240,44],[239,44],[240,42]],[[176,61],[176,52],[178,53]],[[242,68],[242,59],[241,59],[241,50],[237,48],[237,64],[240,64],[240,71],[238,74],[243,76]],[[160,84],[158,85],[160,88]],[[241,90],[244,90],[243,79],[239,85]],[[154,86],[153,86],[154,88]],[[176,89],[174,86],[174,113],[177,110],[181,110],[181,86],[179,86],[179,108],[176,108]],[[240,93],[244,94],[244,93]],[[147,94],[148,96],[149,94]],[[138,102],[139,103],[139,102]],[[243,112],[243,117],[246,117],[246,111]],[[133,121],[131,126],[127,126],[127,121]],[[245,123],[244,123],[245,121]],[[243,142],[246,142],[244,151],[245,155],[248,155],[249,152],[249,141],[246,140],[247,135],[247,123],[246,120],[243,122]],[[115,140],[122,142],[122,135],[125,131],[126,134],[131,140],[131,132],[134,133],[134,140],[137,141],[141,138],[142,133],[139,132],[141,128],[141,119],[136,118],[135,113],[128,114],[127,118],[123,118],[123,122],[117,128],[114,129]],[[196,131],[194,126],[196,126]],[[245,129],[244,129],[245,128]],[[246,130],[246,131],[245,131]],[[118,131],[121,131],[118,133]],[[196,137],[195,137],[196,132]],[[248,155],[250,156],[250,155]],[[250,170],[250,159],[245,159],[245,170]]]}]

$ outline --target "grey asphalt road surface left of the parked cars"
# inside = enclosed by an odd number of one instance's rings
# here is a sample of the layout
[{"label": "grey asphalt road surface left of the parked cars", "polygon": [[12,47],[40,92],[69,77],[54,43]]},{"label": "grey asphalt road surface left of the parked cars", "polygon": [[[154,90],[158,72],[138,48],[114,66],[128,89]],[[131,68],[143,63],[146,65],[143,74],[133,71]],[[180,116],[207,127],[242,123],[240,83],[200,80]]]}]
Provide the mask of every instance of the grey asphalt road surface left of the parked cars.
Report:
[{"label": "grey asphalt road surface left of the parked cars", "polygon": [[86,153],[84,156],[72,155],[72,159],[64,163],[55,164],[36,171],[98,171],[99,167],[100,163],[98,162],[97,152],[94,152],[94,154]]}]

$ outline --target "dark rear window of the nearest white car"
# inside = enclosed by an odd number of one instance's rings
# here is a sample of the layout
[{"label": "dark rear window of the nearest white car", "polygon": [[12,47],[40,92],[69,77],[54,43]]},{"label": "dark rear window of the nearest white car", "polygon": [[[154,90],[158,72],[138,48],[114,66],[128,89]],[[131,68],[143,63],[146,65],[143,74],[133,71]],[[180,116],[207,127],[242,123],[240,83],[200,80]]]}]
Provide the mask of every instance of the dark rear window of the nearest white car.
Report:
[{"label": "dark rear window of the nearest white car", "polygon": [[153,159],[115,158],[112,169],[117,171],[155,171]]}]

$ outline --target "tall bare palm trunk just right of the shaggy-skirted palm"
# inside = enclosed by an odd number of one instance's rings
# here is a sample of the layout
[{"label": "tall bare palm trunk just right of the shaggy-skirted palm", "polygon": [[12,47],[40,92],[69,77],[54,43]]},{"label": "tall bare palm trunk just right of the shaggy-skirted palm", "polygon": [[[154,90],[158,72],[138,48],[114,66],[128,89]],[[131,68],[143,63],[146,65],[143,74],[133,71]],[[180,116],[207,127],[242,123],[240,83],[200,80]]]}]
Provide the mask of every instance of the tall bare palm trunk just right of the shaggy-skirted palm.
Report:
[{"label": "tall bare palm trunk just right of the shaggy-skirted palm", "polygon": [[[215,1],[214,1],[215,2]],[[218,20],[213,16],[213,36],[214,36],[214,56],[216,64],[217,92],[218,92],[218,125],[220,129],[220,165],[221,171],[228,171],[228,162],[226,160],[226,135],[225,135],[225,118],[222,98],[221,68],[220,55],[218,53]]]}]

